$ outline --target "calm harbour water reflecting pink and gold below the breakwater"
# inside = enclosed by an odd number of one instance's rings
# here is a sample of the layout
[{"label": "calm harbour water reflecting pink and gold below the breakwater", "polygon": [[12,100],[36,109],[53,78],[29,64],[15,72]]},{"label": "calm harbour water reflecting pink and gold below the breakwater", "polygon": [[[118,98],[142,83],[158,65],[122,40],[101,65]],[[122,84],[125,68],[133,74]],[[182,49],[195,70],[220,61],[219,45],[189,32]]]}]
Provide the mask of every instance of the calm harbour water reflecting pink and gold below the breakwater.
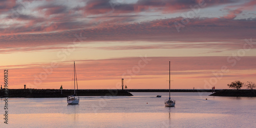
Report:
[{"label": "calm harbour water reflecting pink and gold below the breakwater", "polygon": [[[172,93],[175,107],[164,106],[168,93],[134,96],[9,98],[8,124],[4,107],[0,127],[255,127],[256,98],[213,97],[210,93]],[[162,95],[156,98],[156,95]],[[205,99],[208,100],[205,100]],[[1,99],[1,106],[4,106]]]}]

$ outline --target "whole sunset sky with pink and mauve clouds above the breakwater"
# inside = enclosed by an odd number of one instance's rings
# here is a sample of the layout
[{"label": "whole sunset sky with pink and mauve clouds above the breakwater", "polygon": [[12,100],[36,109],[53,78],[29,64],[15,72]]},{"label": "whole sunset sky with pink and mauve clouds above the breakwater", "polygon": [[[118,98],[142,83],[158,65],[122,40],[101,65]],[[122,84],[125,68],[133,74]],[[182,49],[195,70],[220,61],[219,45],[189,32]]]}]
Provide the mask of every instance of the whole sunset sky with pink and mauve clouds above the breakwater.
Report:
[{"label": "whole sunset sky with pink and mauve clouds above the breakwater", "polygon": [[[0,1],[9,89],[228,89],[256,82],[256,1]],[[0,81],[4,85],[4,77]]]}]

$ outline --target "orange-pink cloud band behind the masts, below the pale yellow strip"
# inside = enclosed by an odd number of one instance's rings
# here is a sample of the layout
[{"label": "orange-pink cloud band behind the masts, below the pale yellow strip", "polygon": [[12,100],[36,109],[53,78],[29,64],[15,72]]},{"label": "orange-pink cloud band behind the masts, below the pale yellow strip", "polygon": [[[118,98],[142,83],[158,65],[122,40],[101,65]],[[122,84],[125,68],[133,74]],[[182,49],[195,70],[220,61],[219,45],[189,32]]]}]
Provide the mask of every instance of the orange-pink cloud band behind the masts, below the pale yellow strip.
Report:
[{"label": "orange-pink cloud band behind the masts, below the pale yellow strip", "polygon": [[[77,75],[82,80],[111,80],[125,78],[131,75],[133,79],[152,79],[159,78],[160,75],[168,74],[168,61],[171,61],[172,75],[177,78],[190,76],[190,79],[210,78],[213,76],[212,71],[220,73],[223,66],[227,68],[221,72],[223,78],[238,77],[237,74],[230,74],[239,71],[240,77],[254,78],[255,73],[247,74],[246,71],[254,71],[254,63],[256,56],[244,56],[237,61],[235,66],[232,62],[227,61],[228,56],[222,57],[147,57],[148,63],[141,61],[141,65],[145,66],[134,72],[133,68],[139,66],[140,57],[113,58],[101,60],[78,60],[76,61]],[[12,85],[18,86],[25,83],[34,83],[37,77],[42,77],[50,72],[42,83],[48,82],[65,82],[71,81],[73,62],[59,62],[56,68],[51,69],[50,63],[34,63],[31,65],[2,66],[2,69],[12,71]],[[225,72],[229,71],[229,72]],[[24,74],[26,72],[26,74]],[[131,72],[130,74],[127,72]],[[41,76],[40,76],[41,75]],[[146,77],[146,76],[148,77]],[[237,76],[236,76],[237,75]],[[45,78],[46,77],[46,78]],[[43,88],[43,87],[40,87]]]}]

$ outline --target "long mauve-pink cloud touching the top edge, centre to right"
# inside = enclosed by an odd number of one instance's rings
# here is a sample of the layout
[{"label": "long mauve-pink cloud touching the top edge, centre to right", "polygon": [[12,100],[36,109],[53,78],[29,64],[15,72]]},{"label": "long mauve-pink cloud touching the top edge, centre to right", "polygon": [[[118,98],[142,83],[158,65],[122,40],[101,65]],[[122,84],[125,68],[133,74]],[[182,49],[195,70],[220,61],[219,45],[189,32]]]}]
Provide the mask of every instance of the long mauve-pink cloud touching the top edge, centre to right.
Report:
[{"label": "long mauve-pink cloud touching the top edge, centre to right", "polygon": [[107,14],[107,13],[138,13],[138,12],[179,12],[191,9],[190,6],[207,5],[207,7],[218,6],[223,4],[237,3],[239,1],[210,1],[210,0],[192,0],[192,1],[164,1],[164,0],[139,0],[137,3],[125,4],[119,1],[89,1],[85,7],[80,7],[87,15],[90,14]]}]

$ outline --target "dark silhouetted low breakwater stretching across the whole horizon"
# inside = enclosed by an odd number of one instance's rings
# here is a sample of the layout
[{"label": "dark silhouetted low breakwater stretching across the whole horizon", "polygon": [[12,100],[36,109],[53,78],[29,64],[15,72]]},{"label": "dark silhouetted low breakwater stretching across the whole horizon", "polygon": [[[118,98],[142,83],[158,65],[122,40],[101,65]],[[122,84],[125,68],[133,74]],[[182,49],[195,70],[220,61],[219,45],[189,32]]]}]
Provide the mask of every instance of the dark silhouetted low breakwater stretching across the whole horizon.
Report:
[{"label": "dark silhouetted low breakwater stretching across the whole horizon", "polygon": [[[163,89],[130,89],[130,90],[78,90],[79,96],[133,96],[130,92],[168,92]],[[253,92],[254,91],[254,92]],[[256,90],[215,90],[209,96],[234,96],[234,97],[256,97]],[[211,90],[170,90],[170,92],[211,92]],[[58,98],[73,95],[74,90],[55,89],[5,89],[0,90],[0,98],[22,97],[22,98]]]}]

